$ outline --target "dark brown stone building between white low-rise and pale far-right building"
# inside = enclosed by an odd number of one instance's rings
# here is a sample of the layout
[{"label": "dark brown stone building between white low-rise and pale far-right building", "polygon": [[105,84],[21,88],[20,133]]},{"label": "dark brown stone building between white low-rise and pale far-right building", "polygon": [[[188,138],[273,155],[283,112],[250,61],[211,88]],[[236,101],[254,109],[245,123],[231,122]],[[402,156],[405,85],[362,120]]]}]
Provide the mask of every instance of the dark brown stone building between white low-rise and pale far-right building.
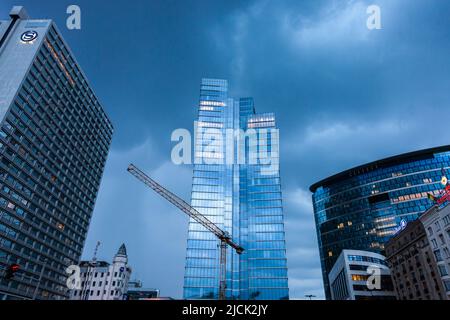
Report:
[{"label": "dark brown stone building between white low-rise and pale far-right building", "polygon": [[433,250],[419,219],[388,241],[386,257],[397,299],[446,299]]}]

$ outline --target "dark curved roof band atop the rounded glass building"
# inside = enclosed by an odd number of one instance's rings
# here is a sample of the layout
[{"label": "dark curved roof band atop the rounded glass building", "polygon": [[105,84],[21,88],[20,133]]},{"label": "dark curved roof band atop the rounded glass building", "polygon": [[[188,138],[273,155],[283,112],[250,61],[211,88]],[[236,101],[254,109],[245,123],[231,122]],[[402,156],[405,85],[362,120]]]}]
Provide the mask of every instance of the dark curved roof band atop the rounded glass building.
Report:
[{"label": "dark curved roof band atop the rounded glass building", "polygon": [[370,171],[380,169],[380,168],[390,167],[393,165],[398,165],[399,163],[404,163],[404,162],[408,162],[411,160],[428,159],[428,158],[432,157],[433,154],[435,154],[435,153],[446,152],[446,151],[450,151],[450,145],[403,153],[403,154],[399,154],[396,156],[384,158],[381,160],[376,160],[373,162],[369,162],[369,163],[342,171],[333,176],[330,176],[328,178],[320,180],[319,182],[316,182],[313,185],[311,185],[309,187],[309,190],[311,192],[316,192],[316,190],[319,187],[326,187],[326,186],[332,185],[336,182],[339,182],[341,180],[345,180],[345,179],[357,176],[362,173],[370,172]]}]

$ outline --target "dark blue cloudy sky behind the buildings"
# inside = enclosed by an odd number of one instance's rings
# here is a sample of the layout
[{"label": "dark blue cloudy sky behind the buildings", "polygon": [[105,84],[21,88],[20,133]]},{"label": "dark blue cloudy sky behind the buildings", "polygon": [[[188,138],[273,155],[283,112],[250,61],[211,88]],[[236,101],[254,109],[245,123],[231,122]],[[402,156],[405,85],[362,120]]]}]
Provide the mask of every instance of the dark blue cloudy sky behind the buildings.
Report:
[{"label": "dark blue cloudy sky behind the buildings", "polygon": [[[170,160],[192,128],[202,77],[229,80],[275,112],[292,298],[323,298],[309,185],[364,162],[448,144],[450,2],[442,0],[2,0],[52,18],[110,115],[115,135],[84,258],[128,247],[134,276],[182,295],[187,218],[126,172],[130,162],[189,199]],[[82,29],[65,27],[78,4]],[[381,30],[366,9],[381,8]]]}]

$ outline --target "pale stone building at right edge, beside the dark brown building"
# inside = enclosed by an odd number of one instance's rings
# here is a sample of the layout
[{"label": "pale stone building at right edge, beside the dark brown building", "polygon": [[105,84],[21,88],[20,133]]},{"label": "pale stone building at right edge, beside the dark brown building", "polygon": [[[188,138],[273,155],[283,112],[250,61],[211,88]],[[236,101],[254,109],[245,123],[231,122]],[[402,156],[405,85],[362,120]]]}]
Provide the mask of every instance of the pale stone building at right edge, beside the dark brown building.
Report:
[{"label": "pale stone building at right edge, beside the dark brown building", "polygon": [[420,216],[437,263],[439,275],[450,300],[450,206],[433,206]]}]

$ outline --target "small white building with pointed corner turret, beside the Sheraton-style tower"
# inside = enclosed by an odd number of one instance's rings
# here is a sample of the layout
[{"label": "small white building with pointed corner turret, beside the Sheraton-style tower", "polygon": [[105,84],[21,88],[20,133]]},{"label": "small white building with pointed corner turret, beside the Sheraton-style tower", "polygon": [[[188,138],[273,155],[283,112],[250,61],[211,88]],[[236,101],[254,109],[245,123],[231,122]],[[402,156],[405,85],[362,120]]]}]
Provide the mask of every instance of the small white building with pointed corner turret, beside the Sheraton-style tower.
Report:
[{"label": "small white building with pointed corner turret, beside the Sheraton-style tower", "polygon": [[124,244],[112,264],[105,261],[82,261],[81,288],[70,291],[70,300],[125,300],[131,267]]}]

